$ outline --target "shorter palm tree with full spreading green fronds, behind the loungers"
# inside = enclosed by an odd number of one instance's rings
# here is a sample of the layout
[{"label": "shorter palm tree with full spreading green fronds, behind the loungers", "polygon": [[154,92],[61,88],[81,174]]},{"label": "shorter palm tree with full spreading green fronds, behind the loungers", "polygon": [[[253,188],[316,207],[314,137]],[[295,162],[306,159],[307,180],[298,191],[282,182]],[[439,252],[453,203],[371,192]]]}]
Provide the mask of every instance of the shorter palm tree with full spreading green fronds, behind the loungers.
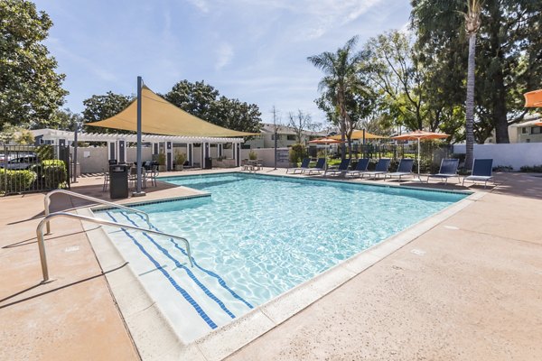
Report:
[{"label": "shorter palm tree with full spreading green fronds, behind the loungers", "polygon": [[332,103],[337,106],[339,113],[339,129],[341,130],[341,158],[346,155],[344,143],[347,124],[350,116],[346,110],[346,98],[349,89],[354,88],[352,82],[356,81],[357,65],[360,62],[360,53],[354,53],[358,37],[354,36],[336,52],[324,51],[320,55],[308,57],[316,68],[322,69],[325,77],[318,85],[319,90],[326,90],[332,97]]}]

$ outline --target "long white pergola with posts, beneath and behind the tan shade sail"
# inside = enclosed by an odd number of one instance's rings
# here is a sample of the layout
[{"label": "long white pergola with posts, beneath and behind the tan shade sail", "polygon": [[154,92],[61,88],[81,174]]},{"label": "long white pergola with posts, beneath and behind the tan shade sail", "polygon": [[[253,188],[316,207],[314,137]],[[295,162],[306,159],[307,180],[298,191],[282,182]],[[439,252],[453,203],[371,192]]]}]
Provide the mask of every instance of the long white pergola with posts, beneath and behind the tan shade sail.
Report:
[{"label": "long white pergola with posts, beneath and behind the tan shade sail", "polygon": [[[51,143],[56,145],[70,145],[73,143],[74,133],[55,129],[39,129],[33,131],[37,143]],[[107,159],[126,162],[126,143],[136,143],[136,134],[101,134],[78,133],[78,142],[105,142],[107,143]],[[186,146],[187,161],[193,166],[194,160],[210,155],[210,147],[216,145],[217,156],[234,159],[236,166],[240,165],[239,149],[243,138],[226,138],[210,136],[182,136],[142,134],[142,143],[151,143],[152,154],[163,152],[166,158],[168,171],[173,170],[173,143],[183,143]],[[231,148],[225,145],[231,143]],[[198,146],[199,144],[199,146]],[[197,156],[199,153],[199,157]],[[200,162],[201,162],[200,161]]]}]

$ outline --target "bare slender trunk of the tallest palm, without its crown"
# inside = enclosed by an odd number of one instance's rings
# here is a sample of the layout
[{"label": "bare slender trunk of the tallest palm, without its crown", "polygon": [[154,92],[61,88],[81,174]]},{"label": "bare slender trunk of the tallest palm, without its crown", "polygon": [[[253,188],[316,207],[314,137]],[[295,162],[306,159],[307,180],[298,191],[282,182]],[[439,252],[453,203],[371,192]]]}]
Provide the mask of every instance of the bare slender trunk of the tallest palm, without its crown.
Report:
[{"label": "bare slender trunk of the tallest palm, without its crown", "polygon": [[465,168],[472,169],[474,158],[474,68],[476,51],[476,32],[469,34],[469,62],[467,70],[467,101],[465,108],[465,135],[466,135],[466,157]]}]

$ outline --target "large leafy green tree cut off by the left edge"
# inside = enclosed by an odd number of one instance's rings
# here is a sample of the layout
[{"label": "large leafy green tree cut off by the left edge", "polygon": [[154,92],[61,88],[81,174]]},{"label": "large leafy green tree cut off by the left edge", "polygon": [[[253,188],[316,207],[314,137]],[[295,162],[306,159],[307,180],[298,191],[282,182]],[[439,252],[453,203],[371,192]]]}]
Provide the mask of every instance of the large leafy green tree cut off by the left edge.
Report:
[{"label": "large leafy green tree cut off by the left edge", "polygon": [[0,126],[54,126],[51,114],[68,94],[42,42],[52,22],[25,0],[0,2]]}]

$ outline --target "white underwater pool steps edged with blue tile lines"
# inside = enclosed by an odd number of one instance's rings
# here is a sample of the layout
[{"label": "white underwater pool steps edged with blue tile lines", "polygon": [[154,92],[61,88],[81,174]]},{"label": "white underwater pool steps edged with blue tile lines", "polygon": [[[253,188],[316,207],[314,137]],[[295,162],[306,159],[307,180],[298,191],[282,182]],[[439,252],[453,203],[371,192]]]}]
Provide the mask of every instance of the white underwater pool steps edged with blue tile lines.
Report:
[{"label": "white underwater pool steps edged with blue tile lines", "polygon": [[[99,214],[100,217],[136,227],[147,227],[144,218],[126,212]],[[157,228],[154,228],[158,230]],[[157,294],[159,304],[177,309],[170,319],[187,338],[194,338],[210,329],[225,325],[252,308],[237,292],[212,270],[205,269],[193,258],[191,267],[184,245],[173,239],[153,236],[126,229],[107,229],[120,252],[130,262],[140,280],[151,294]],[[126,242],[128,241],[128,242]],[[193,241],[192,241],[193,242]]]}]

